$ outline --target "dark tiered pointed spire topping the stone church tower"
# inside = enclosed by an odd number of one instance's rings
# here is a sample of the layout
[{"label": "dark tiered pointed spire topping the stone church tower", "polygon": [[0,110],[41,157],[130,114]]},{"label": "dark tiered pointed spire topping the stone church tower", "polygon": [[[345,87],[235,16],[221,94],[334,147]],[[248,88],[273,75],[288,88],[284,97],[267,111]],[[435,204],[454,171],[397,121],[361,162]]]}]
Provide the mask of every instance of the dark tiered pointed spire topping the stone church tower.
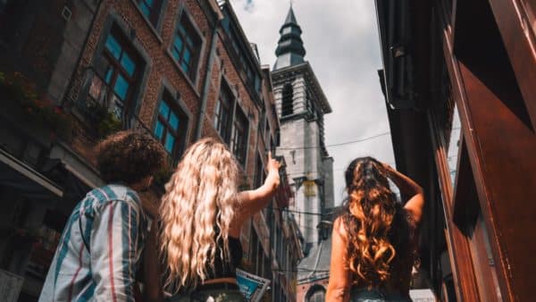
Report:
[{"label": "dark tiered pointed spire topping the stone church tower", "polygon": [[292,3],[290,3],[289,13],[280,29],[281,38],[275,50],[277,61],[273,66],[274,70],[305,62],[306,48],[304,48],[301,33],[302,30],[297,24]]}]

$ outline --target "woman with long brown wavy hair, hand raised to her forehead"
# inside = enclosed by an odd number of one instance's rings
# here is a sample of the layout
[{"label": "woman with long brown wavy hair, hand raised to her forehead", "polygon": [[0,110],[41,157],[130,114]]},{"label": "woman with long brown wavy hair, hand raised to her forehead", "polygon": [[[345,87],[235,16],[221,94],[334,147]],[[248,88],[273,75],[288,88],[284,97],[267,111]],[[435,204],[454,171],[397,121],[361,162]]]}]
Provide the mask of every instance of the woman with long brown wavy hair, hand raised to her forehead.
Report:
[{"label": "woman with long brown wavy hair, hand raised to her forehead", "polygon": [[[405,206],[389,189],[392,180]],[[326,301],[411,301],[423,189],[372,157],[356,158],[345,172],[348,200],[333,223]]]}]

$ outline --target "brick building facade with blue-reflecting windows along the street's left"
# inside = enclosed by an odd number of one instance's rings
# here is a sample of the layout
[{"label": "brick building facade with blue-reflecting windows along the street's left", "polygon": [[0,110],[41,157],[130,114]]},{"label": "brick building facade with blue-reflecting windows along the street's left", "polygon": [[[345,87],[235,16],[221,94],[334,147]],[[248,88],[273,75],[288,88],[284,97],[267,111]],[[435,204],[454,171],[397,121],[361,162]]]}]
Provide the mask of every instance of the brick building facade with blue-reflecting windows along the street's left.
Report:
[{"label": "brick building facade with blue-reflecting windows along the street's left", "polygon": [[[58,0],[41,14],[43,6],[0,5],[0,273],[21,285],[21,301],[38,296],[72,207],[103,184],[92,150],[106,134],[151,133],[170,164],[198,138],[219,138],[240,163],[241,189],[262,183],[266,150],[279,141],[269,72],[227,2]],[[150,214],[169,175],[142,194]],[[277,284],[275,301],[295,295],[292,276],[272,270],[291,272],[300,256],[296,224],[281,214],[289,198],[282,181],[274,206],[241,235],[244,268]],[[280,252],[271,234],[284,234]],[[283,259],[284,240],[296,248]]]}]

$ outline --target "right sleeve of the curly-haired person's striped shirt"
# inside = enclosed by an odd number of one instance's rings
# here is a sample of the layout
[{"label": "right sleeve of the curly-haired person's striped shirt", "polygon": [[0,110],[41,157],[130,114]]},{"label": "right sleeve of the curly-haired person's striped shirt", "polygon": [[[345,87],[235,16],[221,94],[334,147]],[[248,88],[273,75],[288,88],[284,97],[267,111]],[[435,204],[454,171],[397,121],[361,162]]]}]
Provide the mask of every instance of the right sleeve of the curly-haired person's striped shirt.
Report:
[{"label": "right sleeve of the curly-haired person's striped shirt", "polygon": [[143,247],[137,240],[140,208],[115,200],[104,205],[91,231],[91,273],[99,301],[134,301],[134,282]]}]

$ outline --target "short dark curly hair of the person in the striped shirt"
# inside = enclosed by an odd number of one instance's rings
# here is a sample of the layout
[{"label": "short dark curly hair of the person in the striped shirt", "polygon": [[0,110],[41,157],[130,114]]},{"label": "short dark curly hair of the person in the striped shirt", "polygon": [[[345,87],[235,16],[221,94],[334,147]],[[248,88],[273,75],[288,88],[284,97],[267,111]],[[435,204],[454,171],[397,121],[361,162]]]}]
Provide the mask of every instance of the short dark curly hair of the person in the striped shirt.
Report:
[{"label": "short dark curly hair of the person in the striped shirt", "polygon": [[134,184],[163,169],[165,155],[155,138],[124,130],[113,133],[96,146],[96,168],[106,182]]}]

